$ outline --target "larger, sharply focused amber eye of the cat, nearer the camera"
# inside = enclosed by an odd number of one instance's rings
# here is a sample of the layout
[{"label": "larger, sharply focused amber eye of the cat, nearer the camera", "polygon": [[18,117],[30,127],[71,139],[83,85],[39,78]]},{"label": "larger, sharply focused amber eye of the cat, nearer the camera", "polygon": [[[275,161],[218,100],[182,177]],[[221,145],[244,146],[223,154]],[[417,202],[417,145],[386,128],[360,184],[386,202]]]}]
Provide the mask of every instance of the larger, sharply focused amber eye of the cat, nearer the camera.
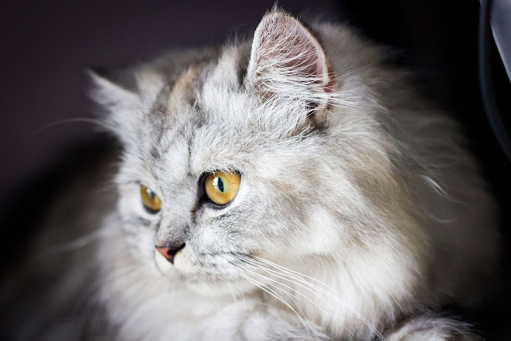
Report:
[{"label": "larger, sharply focused amber eye of the cat, nearer the camera", "polygon": [[238,173],[211,173],[204,180],[204,191],[211,201],[218,205],[225,205],[238,193],[240,180],[241,175]]}]

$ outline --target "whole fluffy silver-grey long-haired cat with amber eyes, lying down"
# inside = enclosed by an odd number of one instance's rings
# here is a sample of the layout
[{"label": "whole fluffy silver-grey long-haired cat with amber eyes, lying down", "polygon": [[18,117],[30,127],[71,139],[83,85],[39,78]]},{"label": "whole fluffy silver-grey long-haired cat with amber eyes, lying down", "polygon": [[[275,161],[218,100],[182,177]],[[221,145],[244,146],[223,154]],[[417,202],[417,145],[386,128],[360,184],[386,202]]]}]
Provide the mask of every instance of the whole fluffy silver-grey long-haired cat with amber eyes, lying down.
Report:
[{"label": "whole fluffy silver-grey long-haired cat with amber eyes, lying down", "polygon": [[252,39],[91,72],[118,168],[53,204],[6,339],[479,339],[442,307],[493,292],[498,208],[388,55],[275,7]]}]

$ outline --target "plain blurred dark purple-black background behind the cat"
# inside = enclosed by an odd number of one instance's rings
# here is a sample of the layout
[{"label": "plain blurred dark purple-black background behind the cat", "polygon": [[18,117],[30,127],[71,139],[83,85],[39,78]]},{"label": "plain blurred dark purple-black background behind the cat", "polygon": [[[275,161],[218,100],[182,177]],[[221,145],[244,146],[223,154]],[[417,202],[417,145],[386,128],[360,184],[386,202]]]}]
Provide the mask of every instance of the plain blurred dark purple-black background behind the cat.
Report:
[{"label": "plain blurred dark purple-black background behind the cat", "polygon": [[[294,13],[341,20],[393,46],[398,63],[463,124],[505,213],[511,167],[487,124],[477,74],[477,0],[280,1]],[[109,148],[87,98],[86,66],[119,67],[169,48],[218,44],[251,32],[273,1],[25,1],[0,7],[0,225],[10,259],[31,222],[77,169]],[[511,86],[496,49],[493,79],[507,116]],[[506,116],[504,115],[504,116]],[[509,120],[507,118],[507,120]],[[506,260],[509,257],[506,256]],[[507,264],[507,263],[506,263]]]}]

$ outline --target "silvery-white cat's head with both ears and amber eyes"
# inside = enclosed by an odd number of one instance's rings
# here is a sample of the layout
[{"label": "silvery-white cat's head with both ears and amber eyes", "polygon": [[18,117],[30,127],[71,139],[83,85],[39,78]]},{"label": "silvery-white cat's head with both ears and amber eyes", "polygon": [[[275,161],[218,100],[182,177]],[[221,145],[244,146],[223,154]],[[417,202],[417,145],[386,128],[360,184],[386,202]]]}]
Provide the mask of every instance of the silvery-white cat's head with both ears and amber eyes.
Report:
[{"label": "silvery-white cat's head with both ears and amber eyes", "polygon": [[124,145],[132,256],[169,276],[238,280],[258,257],[342,260],[394,238],[375,232],[379,206],[395,204],[385,135],[357,107],[363,86],[339,77],[352,65],[336,70],[327,55],[273,10],[251,43],[93,76]]}]

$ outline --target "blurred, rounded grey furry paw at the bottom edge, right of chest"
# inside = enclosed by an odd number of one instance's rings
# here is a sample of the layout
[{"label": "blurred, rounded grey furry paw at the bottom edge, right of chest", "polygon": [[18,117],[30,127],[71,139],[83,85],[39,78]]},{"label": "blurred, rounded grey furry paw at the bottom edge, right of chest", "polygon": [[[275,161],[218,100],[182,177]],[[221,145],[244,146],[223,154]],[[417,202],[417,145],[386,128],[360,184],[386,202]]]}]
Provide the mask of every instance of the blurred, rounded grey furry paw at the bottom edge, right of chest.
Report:
[{"label": "blurred, rounded grey furry paw at the bottom edge, right of chest", "polygon": [[387,341],[483,341],[462,322],[430,314],[414,317],[388,332]]}]

